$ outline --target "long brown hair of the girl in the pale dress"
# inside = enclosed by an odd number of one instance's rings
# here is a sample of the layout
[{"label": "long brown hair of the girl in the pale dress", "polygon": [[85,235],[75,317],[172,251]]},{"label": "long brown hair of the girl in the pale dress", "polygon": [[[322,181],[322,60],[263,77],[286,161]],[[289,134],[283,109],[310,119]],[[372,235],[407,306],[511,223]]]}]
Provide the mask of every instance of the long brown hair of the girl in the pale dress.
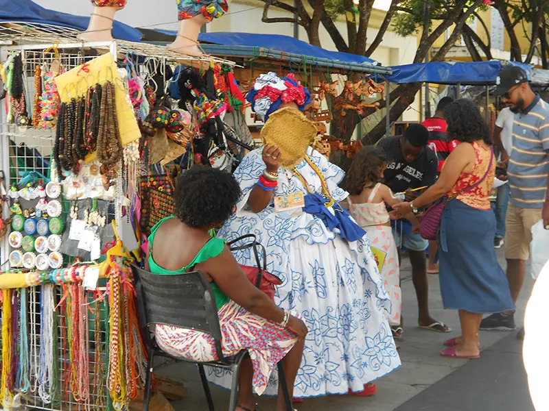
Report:
[{"label": "long brown hair of the girl in the pale dress", "polygon": [[347,173],[347,191],[350,195],[359,195],[366,185],[380,182],[379,169],[387,162],[381,147],[362,147],[353,157]]}]

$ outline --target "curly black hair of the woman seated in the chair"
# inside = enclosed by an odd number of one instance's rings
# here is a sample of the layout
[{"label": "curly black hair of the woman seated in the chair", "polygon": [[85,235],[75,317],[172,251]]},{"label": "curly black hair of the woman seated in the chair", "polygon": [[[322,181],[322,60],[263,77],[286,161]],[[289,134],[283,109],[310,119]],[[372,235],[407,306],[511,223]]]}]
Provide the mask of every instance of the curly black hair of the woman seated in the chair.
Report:
[{"label": "curly black hair of the woman seated in the chair", "polygon": [[189,227],[209,229],[229,219],[239,197],[233,175],[194,166],[177,179],[174,215]]}]

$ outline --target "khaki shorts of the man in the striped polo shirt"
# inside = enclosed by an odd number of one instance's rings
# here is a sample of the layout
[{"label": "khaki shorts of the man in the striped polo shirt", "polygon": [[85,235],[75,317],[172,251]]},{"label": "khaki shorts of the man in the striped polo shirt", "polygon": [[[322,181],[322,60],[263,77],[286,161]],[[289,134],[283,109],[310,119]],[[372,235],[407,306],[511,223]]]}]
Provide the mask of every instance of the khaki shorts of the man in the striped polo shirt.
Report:
[{"label": "khaki shorts of the man in the striped polo shirt", "polygon": [[509,204],[505,219],[505,258],[528,260],[532,226],[541,220],[541,208],[518,208]]}]

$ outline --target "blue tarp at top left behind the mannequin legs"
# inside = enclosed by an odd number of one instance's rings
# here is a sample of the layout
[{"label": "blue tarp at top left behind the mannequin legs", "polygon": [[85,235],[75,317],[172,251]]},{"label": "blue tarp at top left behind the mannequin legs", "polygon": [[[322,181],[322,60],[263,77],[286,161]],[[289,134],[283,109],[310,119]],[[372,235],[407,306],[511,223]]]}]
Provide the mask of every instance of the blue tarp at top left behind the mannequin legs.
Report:
[{"label": "blue tarp at top left behind the mannequin legs", "polygon": [[[83,31],[88,27],[89,21],[89,17],[48,10],[31,0],[0,0],[0,23],[56,25]],[[139,42],[141,41],[141,32],[124,23],[115,21],[113,24],[113,37],[118,40]]]}]

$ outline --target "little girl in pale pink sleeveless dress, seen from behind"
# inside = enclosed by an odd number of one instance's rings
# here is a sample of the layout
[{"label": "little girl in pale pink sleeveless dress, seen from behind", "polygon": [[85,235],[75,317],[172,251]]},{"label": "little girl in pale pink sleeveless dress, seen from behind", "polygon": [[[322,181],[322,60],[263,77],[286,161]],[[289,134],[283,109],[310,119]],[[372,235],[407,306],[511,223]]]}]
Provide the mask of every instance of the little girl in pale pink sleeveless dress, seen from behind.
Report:
[{"label": "little girl in pale pink sleeveless dress, seen from behind", "polygon": [[[381,148],[369,146],[360,149],[347,173],[347,206],[349,214],[368,234],[376,262],[378,265],[382,263],[380,274],[391,301],[388,321],[390,325],[399,325],[402,305],[399,256],[387,211],[387,207],[399,200],[388,186],[381,183],[386,166],[387,160]],[[412,213],[406,218],[412,225],[419,224]]]}]

